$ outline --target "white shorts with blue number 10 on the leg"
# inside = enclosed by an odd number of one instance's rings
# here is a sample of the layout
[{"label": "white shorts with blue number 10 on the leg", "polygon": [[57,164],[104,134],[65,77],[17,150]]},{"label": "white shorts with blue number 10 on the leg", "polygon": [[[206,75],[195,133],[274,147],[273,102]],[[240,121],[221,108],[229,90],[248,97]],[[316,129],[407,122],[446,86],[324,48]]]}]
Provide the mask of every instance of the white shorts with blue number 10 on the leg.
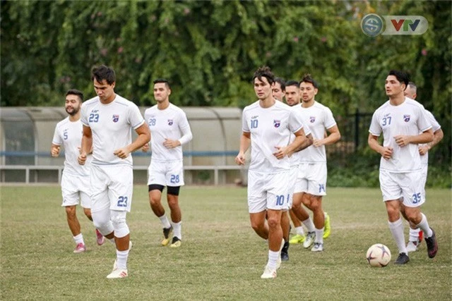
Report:
[{"label": "white shorts with blue number 10 on the leg", "polygon": [[248,171],[248,211],[287,210],[290,171],[260,173]]}]

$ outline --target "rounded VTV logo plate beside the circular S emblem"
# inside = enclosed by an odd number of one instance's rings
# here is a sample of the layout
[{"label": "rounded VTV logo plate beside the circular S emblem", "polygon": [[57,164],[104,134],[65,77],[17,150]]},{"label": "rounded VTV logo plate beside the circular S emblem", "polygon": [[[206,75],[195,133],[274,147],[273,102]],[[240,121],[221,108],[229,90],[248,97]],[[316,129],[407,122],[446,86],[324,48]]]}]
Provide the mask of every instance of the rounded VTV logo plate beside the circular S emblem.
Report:
[{"label": "rounded VTV logo plate beside the circular S emblem", "polygon": [[386,21],[386,30],[382,35],[422,35],[429,23],[422,16],[382,16]]}]

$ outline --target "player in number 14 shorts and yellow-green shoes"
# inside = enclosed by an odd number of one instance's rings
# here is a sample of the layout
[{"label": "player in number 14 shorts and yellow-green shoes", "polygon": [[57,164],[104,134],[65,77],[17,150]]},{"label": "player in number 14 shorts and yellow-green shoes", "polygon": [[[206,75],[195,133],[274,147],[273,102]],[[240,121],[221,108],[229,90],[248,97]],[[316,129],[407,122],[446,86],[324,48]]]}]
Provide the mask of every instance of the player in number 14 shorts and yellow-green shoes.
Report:
[{"label": "player in number 14 shorts and yellow-green shoes", "polygon": [[[297,108],[302,112],[302,121],[311,129],[314,143],[299,154],[301,161],[292,210],[308,231],[303,247],[309,248],[314,243],[311,251],[322,252],[323,237],[328,237],[331,231],[329,216],[322,209],[327,177],[325,145],[340,140],[340,132],[331,110],[316,102],[319,85],[311,75],[304,75],[299,83],[299,91],[302,94],[302,104]],[[302,204],[313,212],[314,223]]]}]

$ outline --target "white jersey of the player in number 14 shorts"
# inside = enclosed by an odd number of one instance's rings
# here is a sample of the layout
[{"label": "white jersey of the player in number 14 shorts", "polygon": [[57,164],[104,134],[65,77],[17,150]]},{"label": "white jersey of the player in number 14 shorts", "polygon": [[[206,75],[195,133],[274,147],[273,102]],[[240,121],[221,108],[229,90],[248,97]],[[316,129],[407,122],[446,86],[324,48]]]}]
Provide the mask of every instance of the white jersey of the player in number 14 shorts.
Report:
[{"label": "white jersey of the player in number 14 shorts", "polygon": [[[311,129],[312,138],[314,140],[323,139],[325,135],[325,129],[333,128],[336,125],[336,121],[333,117],[333,113],[328,106],[323,106],[319,102],[314,101],[309,108],[302,107],[302,104],[295,106],[295,108],[301,111],[302,121]],[[304,163],[326,163],[326,150],[325,145],[321,147],[314,147],[311,145],[306,149],[303,149],[299,156]]]}]

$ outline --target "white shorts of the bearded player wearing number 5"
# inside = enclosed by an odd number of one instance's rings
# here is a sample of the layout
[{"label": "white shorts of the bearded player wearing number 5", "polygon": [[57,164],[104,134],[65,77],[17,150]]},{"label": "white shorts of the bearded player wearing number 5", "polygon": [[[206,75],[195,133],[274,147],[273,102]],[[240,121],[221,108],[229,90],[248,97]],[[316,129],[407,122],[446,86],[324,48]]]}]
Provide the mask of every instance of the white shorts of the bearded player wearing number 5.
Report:
[{"label": "white shorts of the bearded player wearing number 5", "polygon": [[81,207],[91,208],[90,177],[76,176],[63,171],[61,195],[63,195],[62,207],[78,205],[80,200]]}]

